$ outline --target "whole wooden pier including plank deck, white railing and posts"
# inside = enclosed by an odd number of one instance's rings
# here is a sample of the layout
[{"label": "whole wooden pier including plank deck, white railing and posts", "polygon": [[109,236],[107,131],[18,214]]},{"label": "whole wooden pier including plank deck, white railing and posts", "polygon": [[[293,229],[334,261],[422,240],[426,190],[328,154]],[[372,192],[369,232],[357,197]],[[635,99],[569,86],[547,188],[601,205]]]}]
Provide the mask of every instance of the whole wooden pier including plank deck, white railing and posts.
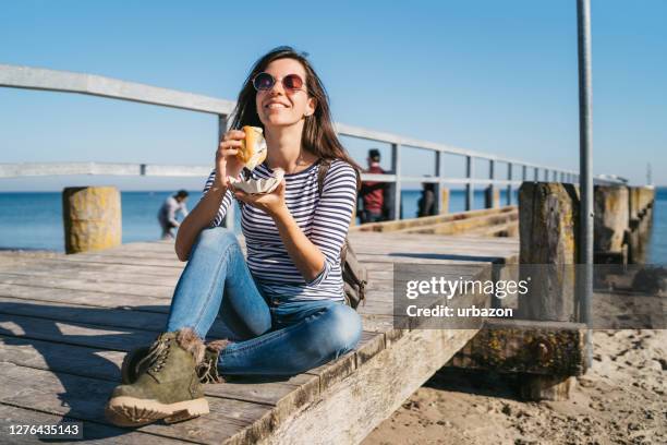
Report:
[{"label": "whole wooden pier including plank deck, white railing and posts", "polygon": [[[219,134],[227,131],[234,106],[229,100],[151,85],[4,64],[0,64],[0,87],[76,93],[209,113],[217,117]],[[3,431],[9,424],[53,424],[66,417],[84,422],[86,438],[104,443],[355,444],[446,363],[538,374],[529,382],[531,397],[536,399],[550,397],[551,393],[558,397],[566,394],[563,378],[583,372],[584,356],[580,353],[584,348],[583,327],[571,323],[569,313],[562,311],[536,321],[500,324],[496,326],[499,334],[493,336],[478,333],[481,326],[413,329],[410,325],[400,325],[397,328],[392,316],[392,274],[396,263],[440,264],[464,279],[486,279],[494,263],[575,263],[574,233],[579,232],[580,203],[574,184],[580,182],[579,173],[343,123],[337,123],[336,129],[345,137],[386,145],[391,158],[391,167],[385,175],[363,173],[362,179],[389,184],[393,196],[393,212],[389,217],[393,220],[367,225],[350,233],[371,278],[367,304],[360,308],[364,333],[353,352],[291,378],[247,377],[208,385],[206,394],[211,412],[192,421],[151,424],[138,430],[118,429],[106,423],[104,406],[120,382],[119,368],[125,352],[150,344],[165,327],[173,289],[184,266],[177,260],[173,245],[141,242],[54,258],[4,256],[0,257]],[[401,159],[409,157],[413,149],[433,153],[430,176],[403,173]],[[445,176],[444,166],[451,158],[464,161],[462,176]],[[488,176],[480,176],[477,170],[486,167]],[[507,175],[500,173],[502,167],[507,167]],[[209,171],[210,166],[0,164],[0,178],[205,177]],[[553,182],[538,184],[539,179]],[[598,185],[624,188],[627,182],[618,178],[593,179]],[[401,190],[411,183],[435,187],[437,215],[400,220]],[[523,205],[520,202],[518,207],[512,206],[513,189],[527,190],[530,183],[538,184],[533,188],[545,192],[524,193],[532,197],[524,197]],[[468,212],[448,214],[445,205],[448,185],[465,188]],[[567,193],[559,193],[566,185]],[[474,211],[474,191],[478,187],[485,187],[486,208]],[[499,208],[501,188],[506,190],[508,205]],[[621,264],[640,260],[647,239],[643,233],[651,227],[653,192],[603,188],[598,191],[597,258]],[[121,225],[120,213],[113,218],[99,217],[89,212],[86,204],[89,202],[68,201],[65,208],[71,214],[81,213],[73,218],[81,224],[72,230],[81,229],[85,234],[73,237],[85,242],[81,246],[72,245],[69,252],[119,242],[119,237],[111,240],[88,237],[94,231],[90,227],[98,227],[100,221],[106,228],[98,232],[116,233],[109,227],[120,229]],[[78,208],[82,203],[83,208]],[[619,214],[622,206],[627,206],[629,217]],[[541,217],[533,218],[537,211]],[[230,209],[228,227],[233,221]],[[555,230],[554,224],[560,229]],[[519,233],[522,233],[521,249]],[[546,238],[558,241],[550,246],[567,249],[536,249]],[[536,261],[524,254],[522,261],[520,251],[538,252],[546,260]],[[490,296],[478,298],[485,300],[478,303],[489,303]],[[565,308],[566,300],[573,306],[573,299],[557,293],[545,293],[539,301],[545,306],[556,301]],[[558,330],[557,340],[560,340],[545,342],[536,334],[524,336],[526,330],[549,336]],[[221,325],[214,325],[209,337],[221,336]],[[577,353],[566,353],[569,358],[560,360],[562,354],[551,353],[560,351],[559,345],[565,346],[566,352],[569,346],[578,345]],[[529,348],[530,354],[522,353],[525,346],[532,348]],[[558,360],[551,360],[551,356]],[[27,436],[16,438],[31,441]]]}]

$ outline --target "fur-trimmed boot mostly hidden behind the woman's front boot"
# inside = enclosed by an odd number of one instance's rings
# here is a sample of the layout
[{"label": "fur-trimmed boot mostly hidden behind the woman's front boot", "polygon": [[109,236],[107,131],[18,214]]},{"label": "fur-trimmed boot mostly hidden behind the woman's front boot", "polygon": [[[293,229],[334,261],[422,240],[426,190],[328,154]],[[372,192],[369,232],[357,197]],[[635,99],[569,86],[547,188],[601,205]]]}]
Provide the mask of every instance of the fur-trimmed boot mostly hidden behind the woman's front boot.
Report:
[{"label": "fur-trimmed boot mostly hidden behind the woman's front boot", "polygon": [[[222,349],[232,341],[227,339],[214,340],[206,345],[204,360],[197,366],[197,375],[202,383],[223,383],[225,378],[218,374],[218,357]],[[148,354],[149,347],[142,346],[133,349],[123,359],[121,366],[121,378],[123,385],[131,385],[148,368],[150,363],[144,360]],[[215,365],[214,365],[215,363]]]}]

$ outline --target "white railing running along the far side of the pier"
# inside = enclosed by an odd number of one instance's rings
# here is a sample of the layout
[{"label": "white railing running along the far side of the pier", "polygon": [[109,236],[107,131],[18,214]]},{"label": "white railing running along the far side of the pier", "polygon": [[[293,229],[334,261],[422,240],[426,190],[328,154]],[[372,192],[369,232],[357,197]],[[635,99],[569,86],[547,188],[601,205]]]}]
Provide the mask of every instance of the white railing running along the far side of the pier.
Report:
[{"label": "white railing running along the far side of the pier", "polygon": [[[230,122],[229,117],[235,105],[231,100],[160,88],[134,82],[125,82],[100,75],[9,64],[0,64],[0,86],[85,94],[215,115],[218,117],[219,135],[222,135],[228,130],[228,124]],[[438,200],[436,200],[437,205],[441,202],[442,190],[447,184],[464,185],[466,211],[473,209],[473,193],[475,185],[486,185],[487,190],[490,189],[492,195],[494,188],[505,188],[507,191],[507,204],[511,204],[512,190],[518,188],[523,181],[579,182],[579,173],[574,170],[527,163],[520,159],[459,148],[441,143],[415,140],[343,123],[337,123],[336,130],[338,134],[342,136],[384,143],[391,147],[391,169],[386,175],[363,173],[362,179],[392,184],[395,219],[400,218],[399,209],[402,184],[408,182],[435,183],[438,196]],[[405,148],[419,148],[434,152],[435,171],[433,176],[411,177],[403,175],[401,159]],[[465,171],[462,177],[450,178],[444,175],[442,158],[445,155],[464,158]],[[475,170],[480,161],[488,161],[488,175],[486,178],[475,177]],[[507,167],[504,179],[500,178],[501,175],[499,172],[501,164],[505,164]],[[210,166],[168,166],[149,164],[25,163],[0,164],[0,178],[52,175],[204,177],[210,173]],[[595,183],[597,184],[624,182],[624,180],[617,177],[601,176],[595,178]],[[228,214],[228,227],[233,225],[233,213]]]}]

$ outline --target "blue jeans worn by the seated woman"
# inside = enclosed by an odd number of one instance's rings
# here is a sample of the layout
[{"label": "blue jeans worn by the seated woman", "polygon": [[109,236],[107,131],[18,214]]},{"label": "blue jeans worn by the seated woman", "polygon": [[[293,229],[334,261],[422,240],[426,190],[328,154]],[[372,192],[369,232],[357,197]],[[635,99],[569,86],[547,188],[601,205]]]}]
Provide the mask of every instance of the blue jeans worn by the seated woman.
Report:
[{"label": "blue jeans worn by the seated woman", "polygon": [[258,290],[237,237],[204,229],[175,287],[167,332],[191,327],[201,337],[220,316],[235,341],[220,353],[225,374],[292,375],[354,349],[362,322],[342,302],[270,301]]}]

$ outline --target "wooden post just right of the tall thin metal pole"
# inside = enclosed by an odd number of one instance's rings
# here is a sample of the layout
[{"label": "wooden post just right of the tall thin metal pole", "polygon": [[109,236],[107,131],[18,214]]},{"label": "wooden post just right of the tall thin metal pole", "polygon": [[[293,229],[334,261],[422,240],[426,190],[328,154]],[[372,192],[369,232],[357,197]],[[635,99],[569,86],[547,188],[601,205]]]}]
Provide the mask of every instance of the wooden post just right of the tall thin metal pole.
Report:
[{"label": "wooden post just right of the tall thin metal pole", "polygon": [[593,244],[596,264],[627,264],[626,232],[630,225],[626,185],[595,185]]}]

